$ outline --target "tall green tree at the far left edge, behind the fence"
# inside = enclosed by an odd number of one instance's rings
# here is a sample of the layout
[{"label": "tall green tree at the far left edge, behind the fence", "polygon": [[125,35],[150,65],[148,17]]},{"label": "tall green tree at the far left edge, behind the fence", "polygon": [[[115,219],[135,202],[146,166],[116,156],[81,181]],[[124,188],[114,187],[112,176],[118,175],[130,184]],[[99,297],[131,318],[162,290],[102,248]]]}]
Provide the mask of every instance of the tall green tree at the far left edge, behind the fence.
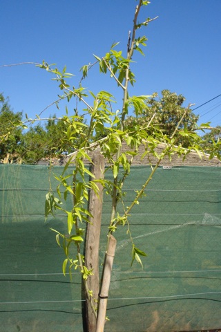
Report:
[{"label": "tall green tree at the far left edge, behind the fence", "polygon": [[14,113],[9,104],[9,98],[0,93],[0,158],[7,154],[17,154],[17,149],[22,137],[21,124],[22,112]]}]

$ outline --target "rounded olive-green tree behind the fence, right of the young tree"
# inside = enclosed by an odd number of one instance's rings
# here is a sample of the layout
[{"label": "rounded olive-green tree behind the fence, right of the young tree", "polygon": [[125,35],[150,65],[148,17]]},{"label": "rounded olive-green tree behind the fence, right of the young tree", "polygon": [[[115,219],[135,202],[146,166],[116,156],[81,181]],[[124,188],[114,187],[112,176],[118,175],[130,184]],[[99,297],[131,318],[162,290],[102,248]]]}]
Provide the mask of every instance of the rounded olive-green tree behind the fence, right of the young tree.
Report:
[{"label": "rounded olive-green tree behind the fence, right of the young tree", "polygon": [[[162,97],[157,93],[153,93],[153,96],[147,100],[146,107],[142,109],[139,116],[130,116],[127,118],[126,127],[133,128],[139,124],[145,129],[146,124],[148,124],[155,114],[153,120],[154,127],[146,129],[148,134],[158,136],[157,133],[160,131],[163,135],[171,137],[186,110],[186,107],[183,106],[184,101],[185,98],[183,95],[177,95],[177,93],[169,90],[163,90]],[[193,131],[198,122],[198,118],[199,117],[189,109],[182,123],[179,125],[178,130],[185,128],[187,131]],[[179,136],[178,131],[175,134],[175,142],[177,145],[182,144],[183,147],[188,147],[189,145],[189,142],[184,137]]]}]

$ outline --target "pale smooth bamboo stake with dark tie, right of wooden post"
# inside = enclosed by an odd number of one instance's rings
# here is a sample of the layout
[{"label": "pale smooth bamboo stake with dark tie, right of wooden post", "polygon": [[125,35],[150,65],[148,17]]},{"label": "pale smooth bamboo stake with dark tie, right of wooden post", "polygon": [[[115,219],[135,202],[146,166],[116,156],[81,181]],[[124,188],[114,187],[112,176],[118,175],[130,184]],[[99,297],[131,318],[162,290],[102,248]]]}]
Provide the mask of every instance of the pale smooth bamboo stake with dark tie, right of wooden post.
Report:
[{"label": "pale smooth bamboo stake with dark tie, right of wooden post", "polygon": [[97,329],[96,332],[104,331],[104,324],[106,321],[106,307],[108,303],[108,292],[111,282],[111,270],[113,266],[113,259],[115,257],[115,249],[117,240],[113,235],[110,235],[108,242],[108,250],[106,251],[104,272],[102,278],[101,291],[99,293],[99,311],[97,316]]}]

